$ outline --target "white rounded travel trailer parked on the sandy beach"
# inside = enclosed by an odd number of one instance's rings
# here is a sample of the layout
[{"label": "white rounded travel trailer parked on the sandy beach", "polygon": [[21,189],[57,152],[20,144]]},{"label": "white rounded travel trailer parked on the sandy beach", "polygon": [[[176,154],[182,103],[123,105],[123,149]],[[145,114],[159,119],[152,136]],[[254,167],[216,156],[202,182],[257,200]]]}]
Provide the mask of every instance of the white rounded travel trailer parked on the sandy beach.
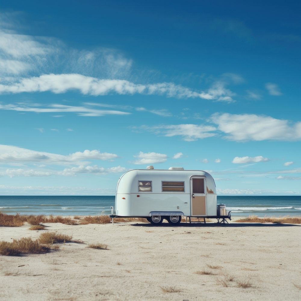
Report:
[{"label": "white rounded travel trailer parked on the sandy beach", "polygon": [[163,219],[172,225],[182,216],[222,218],[217,214],[216,186],[213,177],[201,170],[133,169],[117,183],[115,212],[110,217],[144,217],[153,225]]}]

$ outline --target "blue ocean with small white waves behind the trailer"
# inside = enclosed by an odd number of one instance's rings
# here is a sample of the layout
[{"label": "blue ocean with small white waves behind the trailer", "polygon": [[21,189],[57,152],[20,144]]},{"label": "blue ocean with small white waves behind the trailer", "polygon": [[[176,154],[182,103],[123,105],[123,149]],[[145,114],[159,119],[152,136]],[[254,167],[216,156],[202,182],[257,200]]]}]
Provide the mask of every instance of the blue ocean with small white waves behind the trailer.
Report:
[{"label": "blue ocean with small white waves behind the trailer", "polygon": [[[0,196],[7,214],[108,215],[115,196]],[[301,216],[301,196],[218,196],[231,216]]]}]

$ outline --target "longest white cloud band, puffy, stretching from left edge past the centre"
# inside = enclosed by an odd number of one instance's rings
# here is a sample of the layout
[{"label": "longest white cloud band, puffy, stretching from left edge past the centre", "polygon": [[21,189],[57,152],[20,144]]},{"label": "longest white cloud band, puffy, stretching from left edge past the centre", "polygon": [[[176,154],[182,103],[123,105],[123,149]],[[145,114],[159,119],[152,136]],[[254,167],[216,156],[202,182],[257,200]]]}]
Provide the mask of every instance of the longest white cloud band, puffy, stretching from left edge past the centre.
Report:
[{"label": "longest white cloud band, puffy, stretching from left edge past the centre", "polygon": [[0,93],[33,93],[46,92],[66,93],[79,91],[84,95],[107,95],[117,93],[119,95],[166,95],[176,98],[201,98],[213,101],[232,102],[234,95],[225,88],[224,82],[215,82],[208,91],[194,91],[182,85],[172,82],[154,84],[135,84],[124,79],[99,79],[77,73],[73,74],[44,74],[22,78],[16,82],[0,84]]}]

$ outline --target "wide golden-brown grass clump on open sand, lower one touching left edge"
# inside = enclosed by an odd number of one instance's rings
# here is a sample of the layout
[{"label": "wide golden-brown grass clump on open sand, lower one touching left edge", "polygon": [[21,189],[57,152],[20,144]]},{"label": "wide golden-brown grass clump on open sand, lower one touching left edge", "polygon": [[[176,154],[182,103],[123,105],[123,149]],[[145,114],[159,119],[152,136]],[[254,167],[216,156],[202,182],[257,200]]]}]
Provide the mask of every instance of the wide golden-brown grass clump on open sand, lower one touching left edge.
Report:
[{"label": "wide golden-brown grass clump on open sand, lower one touching left edge", "polygon": [[0,255],[14,256],[20,254],[40,254],[50,251],[49,247],[42,246],[37,240],[31,238],[14,239],[12,242],[0,242]]}]

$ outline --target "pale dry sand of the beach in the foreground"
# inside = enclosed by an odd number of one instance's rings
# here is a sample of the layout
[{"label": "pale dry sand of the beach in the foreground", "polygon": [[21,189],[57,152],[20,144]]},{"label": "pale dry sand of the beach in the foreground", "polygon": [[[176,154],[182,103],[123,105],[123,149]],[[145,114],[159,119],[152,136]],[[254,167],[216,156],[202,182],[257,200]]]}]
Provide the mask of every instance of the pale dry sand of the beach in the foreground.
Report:
[{"label": "pale dry sand of the beach in the foreground", "polygon": [[[0,300],[301,299],[301,225],[45,225],[85,244],[0,256]],[[28,228],[0,227],[0,240],[45,232]]]}]

